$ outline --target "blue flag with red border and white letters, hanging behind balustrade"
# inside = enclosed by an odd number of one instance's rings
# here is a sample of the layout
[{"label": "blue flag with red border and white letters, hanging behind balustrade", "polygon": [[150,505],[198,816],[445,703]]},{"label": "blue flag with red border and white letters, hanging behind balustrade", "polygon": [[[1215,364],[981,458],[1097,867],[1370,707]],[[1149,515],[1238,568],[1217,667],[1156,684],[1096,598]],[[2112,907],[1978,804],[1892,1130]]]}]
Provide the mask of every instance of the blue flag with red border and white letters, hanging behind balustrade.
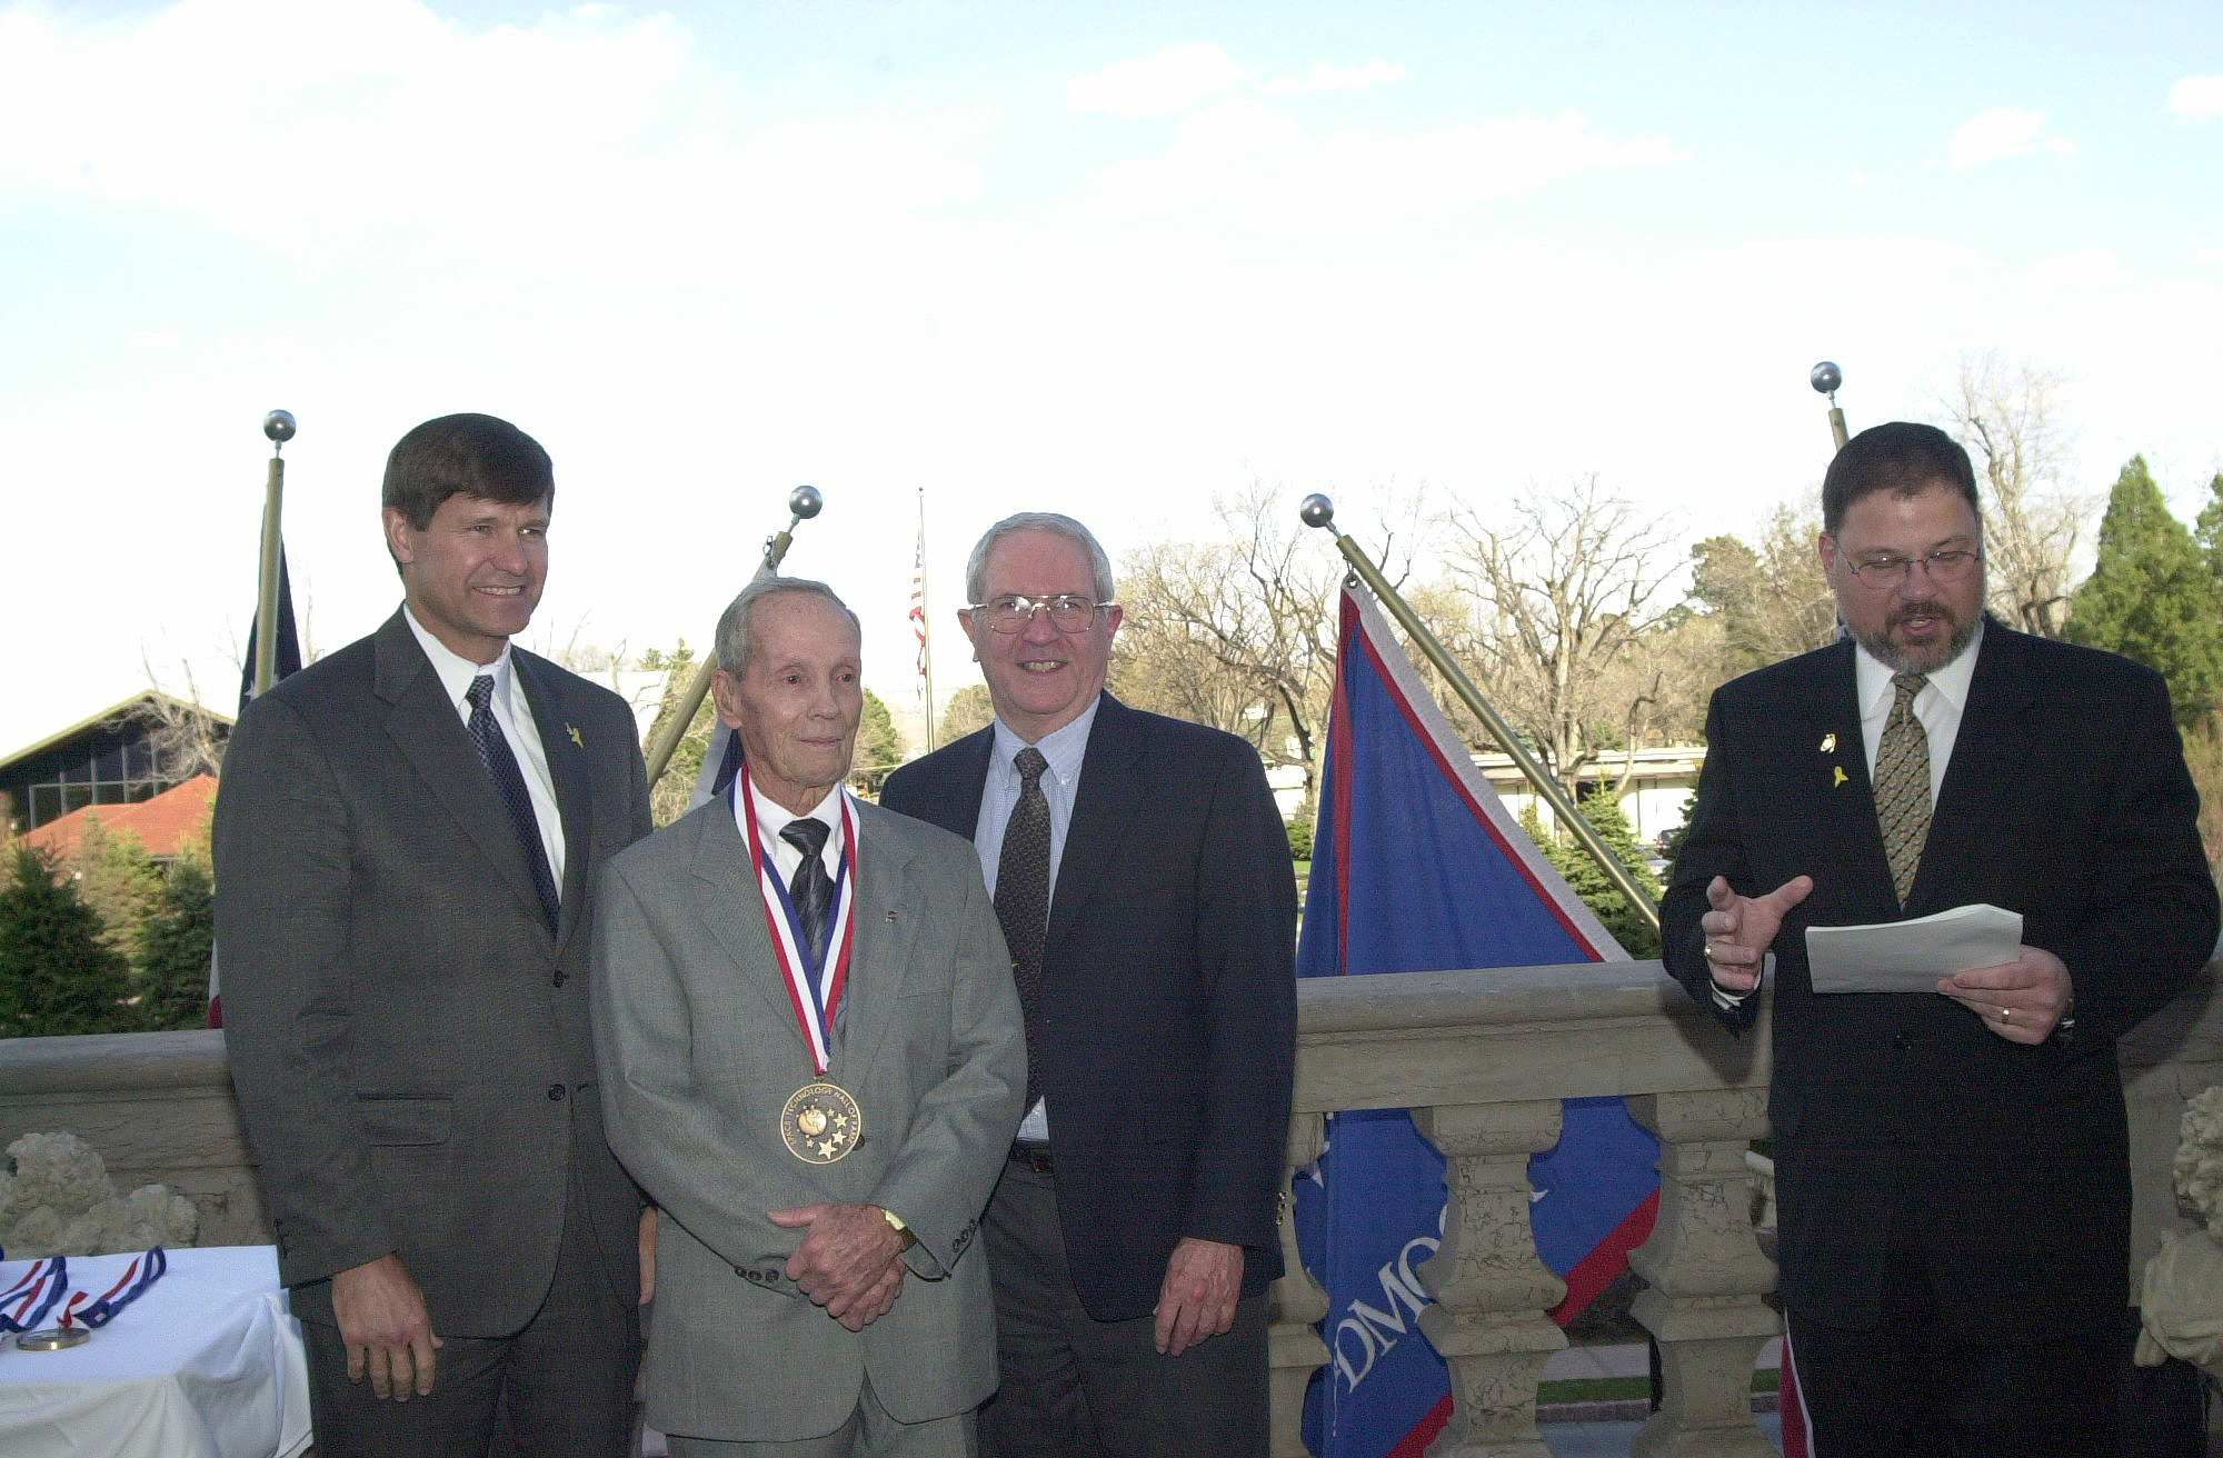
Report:
[{"label": "blue flag with red border and white letters, hanging behind balustrade", "polygon": [[[1609,960],[1627,951],[1483,780],[1380,611],[1345,589],[1298,976]],[[1656,1160],[1618,1098],[1567,1100],[1558,1145],[1529,1160],[1536,1254],[1567,1282],[1561,1325],[1652,1231]],[[1305,1398],[1320,1458],[1407,1458],[1443,1429],[1449,1376],[1418,1327],[1441,1234],[1443,1156],[1412,1116],[1332,1116],[1296,1180],[1298,1249],[1327,1291],[1329,1360]]]}]

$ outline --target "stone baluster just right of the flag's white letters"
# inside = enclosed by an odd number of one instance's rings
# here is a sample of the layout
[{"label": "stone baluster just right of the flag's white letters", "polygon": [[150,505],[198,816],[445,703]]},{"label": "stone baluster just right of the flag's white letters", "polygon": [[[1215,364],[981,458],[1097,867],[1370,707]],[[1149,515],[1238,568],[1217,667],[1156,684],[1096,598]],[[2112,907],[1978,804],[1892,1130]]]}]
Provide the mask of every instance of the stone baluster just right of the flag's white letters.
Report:
[{"label": "stone baluster just right of the flag's white letters", "polygon": [[1567,1287],[1536,1256],[1527,1160],[1558,1142],[1558,1100],[1414,1109],[1447,1160],[1443,1247],[1420,1267],[1420,1331],[1452,1369],[1452,1418],[1429,1458],[1549,1458],[1536,1382],[1567,1345],[1545,1311]]}]

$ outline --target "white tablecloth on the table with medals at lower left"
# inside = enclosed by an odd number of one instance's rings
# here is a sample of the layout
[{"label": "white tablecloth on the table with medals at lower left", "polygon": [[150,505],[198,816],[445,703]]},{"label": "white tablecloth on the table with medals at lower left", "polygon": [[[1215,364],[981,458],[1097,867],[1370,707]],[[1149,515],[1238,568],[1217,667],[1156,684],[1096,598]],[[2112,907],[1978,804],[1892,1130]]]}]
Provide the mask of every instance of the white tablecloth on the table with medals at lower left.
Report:
[{"label": "white tablecloth on the table with medals at lower left", "polygon": [[[91,1300],[129,1265],[71,1256],[69,1285]],[[0,1291],[29,1267],[0,1262]],[[296,1458],[305,1447],[309,1367],[267,1245],[169,1251],[169,1274],[82,1347],[0,1345],[7,1458]]]}]

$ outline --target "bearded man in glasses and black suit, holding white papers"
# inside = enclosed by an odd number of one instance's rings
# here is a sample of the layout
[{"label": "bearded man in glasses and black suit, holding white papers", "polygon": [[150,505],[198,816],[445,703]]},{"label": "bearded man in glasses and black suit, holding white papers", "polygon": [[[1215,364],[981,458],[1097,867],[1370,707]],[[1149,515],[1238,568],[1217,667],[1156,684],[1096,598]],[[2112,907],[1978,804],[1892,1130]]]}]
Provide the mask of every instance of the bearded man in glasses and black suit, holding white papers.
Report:
[{"label": "bearded man in glasses and black suit, holding white papers", "polygon": [[[1732,1029],[1774,956],[1783,1302],[1814,1454],[2105,1454],[2127,1291],[2114,1040],[2216,938],[2159,676],[1983,616],[1967,453],[1854,438],[1821,565],[1850,638],[1723,687],[1665,958]],[[2012,960],[1816,993],[1807,927],[1990,902]]]}]

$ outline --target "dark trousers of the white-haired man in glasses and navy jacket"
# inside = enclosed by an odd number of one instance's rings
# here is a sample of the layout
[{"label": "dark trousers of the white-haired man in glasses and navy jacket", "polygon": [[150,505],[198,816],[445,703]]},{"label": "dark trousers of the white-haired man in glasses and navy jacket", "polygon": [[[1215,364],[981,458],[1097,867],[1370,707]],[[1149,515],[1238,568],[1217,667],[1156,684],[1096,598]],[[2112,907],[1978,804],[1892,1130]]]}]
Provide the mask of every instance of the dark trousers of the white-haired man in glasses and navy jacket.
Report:
[{"label": "dark trousers of the white-haired man in glasses and navy jacket", "polygon": [[1054,1176],[1005,1165],[983,1231],[1000,1376],[980,1409],[983,1458],[1265,1458],[1265,1296],[1163,1356],[1154,1316],[1100,1322],[1080,1307]]}]

